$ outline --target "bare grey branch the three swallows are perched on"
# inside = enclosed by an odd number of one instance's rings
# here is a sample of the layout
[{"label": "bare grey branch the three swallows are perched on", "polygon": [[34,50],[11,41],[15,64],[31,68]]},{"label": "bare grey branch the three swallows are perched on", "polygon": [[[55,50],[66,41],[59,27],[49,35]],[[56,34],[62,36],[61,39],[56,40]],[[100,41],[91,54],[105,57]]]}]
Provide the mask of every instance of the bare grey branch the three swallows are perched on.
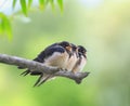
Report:
[{"label": "bare grey branch the three swallows are perched on", "polygon": [[26,59],[17,56],[10,56],[6,54],[0,54],[0,63],[25,67],[32,70],[40,70],[41,72],[46,72],[49,75],[53,74],[54,76],[58,76],[58,77],[66,77],[75,80],[77,83],[80,83],[82,79],[89,75],[89,72],[73,74],[70,71],[62,70],[57,67],[46,66],[35,61],[30,61],[30,59]]}]

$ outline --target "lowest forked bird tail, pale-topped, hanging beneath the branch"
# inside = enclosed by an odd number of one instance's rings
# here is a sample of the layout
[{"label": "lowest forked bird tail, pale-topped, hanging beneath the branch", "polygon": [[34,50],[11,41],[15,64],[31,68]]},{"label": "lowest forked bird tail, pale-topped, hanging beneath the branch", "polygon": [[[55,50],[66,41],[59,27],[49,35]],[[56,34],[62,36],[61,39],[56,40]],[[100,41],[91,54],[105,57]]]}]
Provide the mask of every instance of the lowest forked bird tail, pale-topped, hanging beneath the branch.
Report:
[{"label": "lowest forked bird tail, pale-topped, hanging beneath the branch", "polygon": [[40,75],[40,77],[38,78],[38,80],[36,81],[36,83],[34,84],[34,87],[40,87],[42,83],[44,83],[47,80],[50,80],[54,78],[53,75],[47,75],[47,74],[42,74]]}]

